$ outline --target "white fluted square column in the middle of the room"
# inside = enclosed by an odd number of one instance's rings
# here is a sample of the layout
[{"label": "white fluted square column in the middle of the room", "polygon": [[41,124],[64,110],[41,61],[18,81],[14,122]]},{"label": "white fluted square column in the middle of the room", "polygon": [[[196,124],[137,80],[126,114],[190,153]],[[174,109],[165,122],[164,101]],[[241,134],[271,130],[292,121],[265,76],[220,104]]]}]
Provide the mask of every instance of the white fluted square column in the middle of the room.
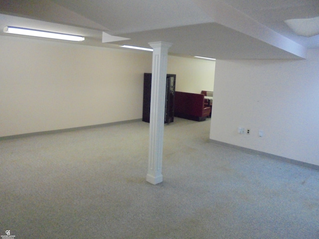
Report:
[{"label": "white fluted square column in the middle of the room", "polygon": [[165,92],[167,74],[167,55],[171,43],[150,42],[153,51],[149,170],[146,181],[158,184],[163,181],[161,163],[163,154]]}]

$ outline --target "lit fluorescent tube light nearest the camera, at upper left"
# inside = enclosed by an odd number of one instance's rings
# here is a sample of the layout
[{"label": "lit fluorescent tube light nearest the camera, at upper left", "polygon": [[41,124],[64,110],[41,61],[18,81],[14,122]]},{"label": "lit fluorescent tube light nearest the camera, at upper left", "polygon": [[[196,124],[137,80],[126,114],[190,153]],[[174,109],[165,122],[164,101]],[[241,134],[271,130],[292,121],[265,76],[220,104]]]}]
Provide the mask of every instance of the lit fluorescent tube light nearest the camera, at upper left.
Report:
[{"label": "lit fluorescent tube light nearest the camera, at upper left", "polygon": [[39,31],[39,30],[12,27],[12,26],[4,27],[3,32],[18,34],[18,35],[38,36],[38,37],[45,37],[45,38],[68,40],[68,41],[84,41],[85,39],[83,36],[75,36],[75,35],[68,35],[68,34],[48,32],[48,31]]}]

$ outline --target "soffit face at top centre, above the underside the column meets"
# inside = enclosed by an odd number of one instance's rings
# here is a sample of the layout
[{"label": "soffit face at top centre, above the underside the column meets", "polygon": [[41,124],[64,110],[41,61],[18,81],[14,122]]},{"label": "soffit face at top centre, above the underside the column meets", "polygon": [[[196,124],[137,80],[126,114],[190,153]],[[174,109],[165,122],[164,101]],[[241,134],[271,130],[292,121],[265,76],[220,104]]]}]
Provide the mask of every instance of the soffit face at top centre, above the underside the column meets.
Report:
[{"label": "soffit face at top centre, above the underside the column meets", "polygon": [[106,26],[112,35],[212,21],[192,0],[51,1]]}]

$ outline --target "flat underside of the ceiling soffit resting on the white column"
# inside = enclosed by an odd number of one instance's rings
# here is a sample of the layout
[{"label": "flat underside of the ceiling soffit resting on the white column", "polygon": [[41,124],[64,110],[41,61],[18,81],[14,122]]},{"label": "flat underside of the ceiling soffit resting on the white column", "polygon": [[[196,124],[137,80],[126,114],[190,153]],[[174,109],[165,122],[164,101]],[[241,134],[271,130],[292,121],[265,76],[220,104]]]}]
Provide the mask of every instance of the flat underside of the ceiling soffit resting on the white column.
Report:
[{"label": "flat underside of the ceiling soffit resting on the white column", "polygon": [[[203,23],[121,34],[131,38],[115,44],[150,48],[158,39],[173,43],[170,53],[217,59],[301,59],[296,55],[218,23]],[[234,40],[236,39],[236,40]]]}]

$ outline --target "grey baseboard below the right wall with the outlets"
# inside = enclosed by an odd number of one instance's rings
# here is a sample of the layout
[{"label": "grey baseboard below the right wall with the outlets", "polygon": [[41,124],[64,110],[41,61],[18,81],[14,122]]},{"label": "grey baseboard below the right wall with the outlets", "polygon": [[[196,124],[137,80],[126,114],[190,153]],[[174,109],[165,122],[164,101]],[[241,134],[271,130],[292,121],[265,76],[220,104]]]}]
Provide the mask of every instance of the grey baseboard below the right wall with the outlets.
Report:
[{"label": "grey baseboard below the right wall with the outlets", "polygon": [[266,152],[262,152],[262,151],[258,151],[258,150],[254,150],[254,149],[250,149],[250,148],[237,146],[237,145],[230,144],[230,143],[217,141],[217,140],[214,140],[214,139],[210,139],[210,142],[212,142],[213,144],[219,145],[219,146],[236,149],[236,150],[239,150],[239,151],[242,151],[242,152],[245,152],[245,153],[249,153],[249,154],[253,154],[253,155],[259,155],[259,156],[263,156],[263,157],[279,160],[279,161],[282,161],[282,162],[294,164],[294,165],[297,165],[297,166],[300,166],[300,167],[310,168],[310,169],[314,169],[314,170],[318,170],[319,171],[319,165],[316,165],[316,164],[306,163],[306,162],[302,162],[302,161],[298,161],[298,160],[295,160],[295,159],[278,156],[278,155],[271,154],[271,153],[266,153]]}]

